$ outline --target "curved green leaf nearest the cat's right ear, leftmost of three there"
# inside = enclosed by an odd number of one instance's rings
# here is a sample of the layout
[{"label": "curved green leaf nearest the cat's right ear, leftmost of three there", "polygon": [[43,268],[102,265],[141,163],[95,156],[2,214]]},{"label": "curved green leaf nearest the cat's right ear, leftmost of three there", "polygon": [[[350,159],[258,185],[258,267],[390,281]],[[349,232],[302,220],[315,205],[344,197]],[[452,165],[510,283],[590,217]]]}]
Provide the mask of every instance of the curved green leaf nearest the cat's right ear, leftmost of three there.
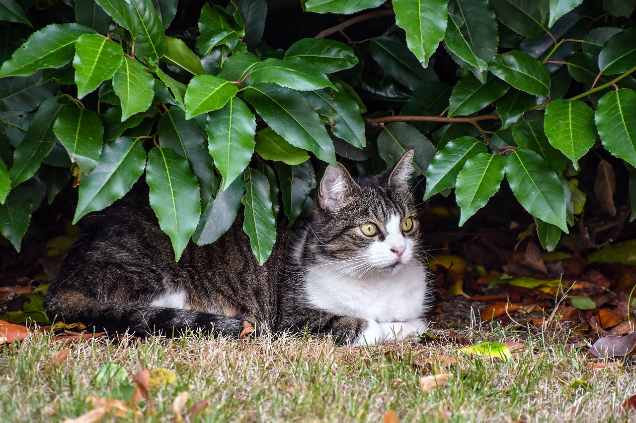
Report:
[{"label": "curved green leaf nearest the cat's right ear, leftmost of three there", "polygon": [[473,137],[460,137],[448,142],[434,156],[426,170],[424,200],[445,189],[454,188],[457,174],[466,161],[485,152],[486,146]]}]

